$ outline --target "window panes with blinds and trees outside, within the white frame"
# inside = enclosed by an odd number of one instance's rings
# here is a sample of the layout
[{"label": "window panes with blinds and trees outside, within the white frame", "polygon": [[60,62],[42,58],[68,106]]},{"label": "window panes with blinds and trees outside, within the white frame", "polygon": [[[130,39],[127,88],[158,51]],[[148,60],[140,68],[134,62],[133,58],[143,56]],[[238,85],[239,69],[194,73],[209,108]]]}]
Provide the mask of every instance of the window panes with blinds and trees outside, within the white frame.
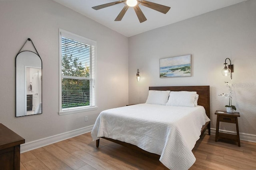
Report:
[{"label": "window panes with blinds and trees outside, within the white frame", "polygon": [[94,46],[62,36],[62,109],[95,106]]}]

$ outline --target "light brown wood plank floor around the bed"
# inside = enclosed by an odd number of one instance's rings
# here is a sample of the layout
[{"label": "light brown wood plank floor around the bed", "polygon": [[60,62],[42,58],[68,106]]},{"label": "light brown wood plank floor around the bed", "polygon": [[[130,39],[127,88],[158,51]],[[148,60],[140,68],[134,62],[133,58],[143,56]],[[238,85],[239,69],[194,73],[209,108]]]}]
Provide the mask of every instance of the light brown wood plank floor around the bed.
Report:
[{"label": "light brown wood plank floor around the bed", "polygon": [[[196,162],[190,170],[255,170],[256,143],[241,141],[241,147],[214,141],[204,135],[192,150]],[[21,170],[166,170],[156,154],[142,153],[100,139],[97,149],[90,133],[24,152]]]}]

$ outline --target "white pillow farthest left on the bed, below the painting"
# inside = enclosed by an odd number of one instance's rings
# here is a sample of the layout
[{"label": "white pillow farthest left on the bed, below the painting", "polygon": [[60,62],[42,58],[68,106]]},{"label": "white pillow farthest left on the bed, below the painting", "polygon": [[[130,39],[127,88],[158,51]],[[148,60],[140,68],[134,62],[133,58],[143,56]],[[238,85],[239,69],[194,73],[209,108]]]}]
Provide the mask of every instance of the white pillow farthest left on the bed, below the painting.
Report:
[{"label": "white pillow farthest left on the bed, below the painting", "polygon": [[170,90],[166,90],[166,91],[149,90],[146,104],[166,105],[168,101],[169,93],[170,93]]}]

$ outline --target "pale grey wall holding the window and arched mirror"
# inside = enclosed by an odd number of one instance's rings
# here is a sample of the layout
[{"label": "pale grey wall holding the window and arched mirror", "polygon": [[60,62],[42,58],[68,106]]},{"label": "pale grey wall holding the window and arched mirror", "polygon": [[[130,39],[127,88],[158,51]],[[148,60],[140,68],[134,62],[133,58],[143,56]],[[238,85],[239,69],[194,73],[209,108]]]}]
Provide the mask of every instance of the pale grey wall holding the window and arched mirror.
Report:
[{"label": "pale grey wall holding the window and arched mirror", "polygon": [[[59,28],[97,41],[95,111],[58,115]],[[42,58],[43,113],[15,117],[15,57],[27,38]],[[127,47],[127,37],[52,0],[0,1],[0,123],[29,142],[93,125],[100,111],[125,106]]]}]

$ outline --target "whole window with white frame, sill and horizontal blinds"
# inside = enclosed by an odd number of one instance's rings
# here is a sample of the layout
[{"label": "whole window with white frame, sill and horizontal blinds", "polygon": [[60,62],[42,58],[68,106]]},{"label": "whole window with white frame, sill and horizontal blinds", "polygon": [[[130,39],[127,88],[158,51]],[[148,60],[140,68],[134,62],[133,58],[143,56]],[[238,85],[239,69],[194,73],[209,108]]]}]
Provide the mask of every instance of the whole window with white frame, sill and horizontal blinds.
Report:
[{"label": "whole window with white frame, sill and horizontal blinds", "polygon": [[60,112],[96,109],[96,42],[60,30]]}]

